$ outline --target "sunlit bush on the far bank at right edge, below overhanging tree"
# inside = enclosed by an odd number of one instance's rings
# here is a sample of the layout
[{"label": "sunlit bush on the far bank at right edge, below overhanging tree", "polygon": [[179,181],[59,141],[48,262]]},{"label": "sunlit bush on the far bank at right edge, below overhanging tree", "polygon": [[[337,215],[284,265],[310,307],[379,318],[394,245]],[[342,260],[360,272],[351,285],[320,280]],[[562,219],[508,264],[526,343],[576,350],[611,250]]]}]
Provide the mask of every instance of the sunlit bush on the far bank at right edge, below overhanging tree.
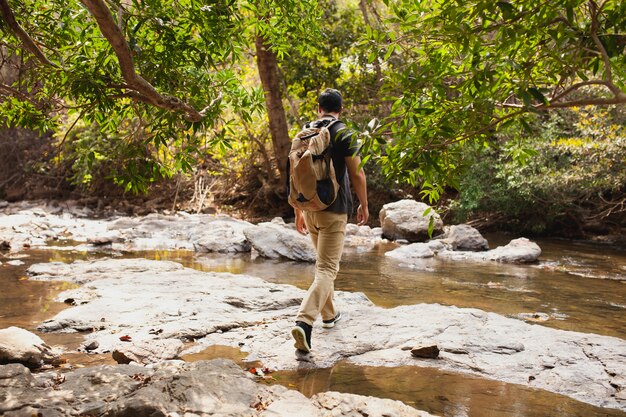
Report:
[{"label": "sunlit bush on the far bank at right edge, below overhanging tree", "polygon": [[454,219],[482,216],[498,229],[532,234],[623,227],[626,129],[615,117],[563,111],[537,121],[537,136],[509,132],[503,146],[476,151],[451,205]]}]

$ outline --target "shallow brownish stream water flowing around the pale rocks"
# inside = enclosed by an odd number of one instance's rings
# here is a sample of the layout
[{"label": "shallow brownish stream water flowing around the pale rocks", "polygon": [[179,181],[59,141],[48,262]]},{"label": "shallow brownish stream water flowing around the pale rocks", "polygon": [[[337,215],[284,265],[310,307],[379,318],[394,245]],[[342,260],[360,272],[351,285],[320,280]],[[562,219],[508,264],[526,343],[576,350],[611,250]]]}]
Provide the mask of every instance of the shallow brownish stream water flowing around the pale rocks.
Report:
[{"label": "shallow brownish stream water flowing around the pale rocks", "polygon": [[[488,237],[495,244],[503,237]],[[507,240],[508,241],[508,240]],[[393,245],[344,254],[336,288],[363,291],[383,307],[440,303],[475,307],[513,317],[525,317],[559,329],[626,338],[626,251],[566,241],[538,241],[543,249],[538,265],[504,265],[427,260],[419,269],[402,267],[384,257]],[[307,288],[313,266],[288,261],[250,259],[250,255],[195,254],[188,251],[126,254],[67,250],[30,250],[24,265],[6,264],[0,256],[0,328],[37,324],[67,306],[54,302],[69,288],[60,282],[26,279],[37,262],[95,259],[102,256],[169,259],[200,270],[242,273],[276,283]],[[614,280],[601,279],[611,277]],[[619,280],[622,281],[619,281]],[[80,334],[45,334],[49,344],[75,349]],[[242,366],[237,349],[214,347],[185,360],[227,357]],[[108,355],[68,354],[69,366],[112,363]],[[331,369],[277,372],[276,382],[306,395],[335,390],[401,400],[446,417],[463,416],[625,416],[541,390],[488,381],[430,368],[371,368],[340,363]]]}]

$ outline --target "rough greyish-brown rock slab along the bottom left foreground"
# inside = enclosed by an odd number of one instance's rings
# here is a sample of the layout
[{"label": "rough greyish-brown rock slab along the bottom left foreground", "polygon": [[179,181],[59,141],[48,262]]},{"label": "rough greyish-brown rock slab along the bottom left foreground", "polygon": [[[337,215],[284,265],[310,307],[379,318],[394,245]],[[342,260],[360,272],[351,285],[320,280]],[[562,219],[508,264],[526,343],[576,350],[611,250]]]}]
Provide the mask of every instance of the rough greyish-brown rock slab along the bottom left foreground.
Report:
[{"label": "rough greyish-brown rock slab along the bottom left foreground", "polygon": [[45,416],[370,416],[427,417],[398,401],[324,393],[307,399],[280,385],[257,384],[227,360],[97,366],[33,376],[19,365],[0,367],[0,414]]}]

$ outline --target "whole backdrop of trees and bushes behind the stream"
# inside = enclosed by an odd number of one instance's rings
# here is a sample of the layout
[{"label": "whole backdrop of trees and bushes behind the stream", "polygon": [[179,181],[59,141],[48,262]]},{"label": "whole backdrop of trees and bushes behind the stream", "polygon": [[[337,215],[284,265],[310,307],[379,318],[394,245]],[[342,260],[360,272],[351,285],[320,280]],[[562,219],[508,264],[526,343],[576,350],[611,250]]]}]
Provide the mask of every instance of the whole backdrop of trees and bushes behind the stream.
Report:
[{"label": "whole backdrop of trees and bushes behind the stream", "polygon": [[292,216],[332,87],[374,219],[626,236],[626,2],[0,0],[0,33],[1,199]]}]

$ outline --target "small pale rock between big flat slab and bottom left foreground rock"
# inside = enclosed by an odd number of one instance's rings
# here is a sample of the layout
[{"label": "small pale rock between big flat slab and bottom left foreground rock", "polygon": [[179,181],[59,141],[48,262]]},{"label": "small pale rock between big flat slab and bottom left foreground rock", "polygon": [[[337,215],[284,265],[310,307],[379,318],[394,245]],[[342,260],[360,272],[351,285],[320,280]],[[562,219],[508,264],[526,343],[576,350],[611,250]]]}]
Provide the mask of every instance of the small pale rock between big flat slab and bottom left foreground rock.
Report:
[{"label": "small pale rock between big flat slab and bottom left foreground rock", "polygon": [[178,358],[183,347],[183,342],[176,339],[119,344],[113,350],[113,359],[121,364],[136,362],[146,365]]}]

